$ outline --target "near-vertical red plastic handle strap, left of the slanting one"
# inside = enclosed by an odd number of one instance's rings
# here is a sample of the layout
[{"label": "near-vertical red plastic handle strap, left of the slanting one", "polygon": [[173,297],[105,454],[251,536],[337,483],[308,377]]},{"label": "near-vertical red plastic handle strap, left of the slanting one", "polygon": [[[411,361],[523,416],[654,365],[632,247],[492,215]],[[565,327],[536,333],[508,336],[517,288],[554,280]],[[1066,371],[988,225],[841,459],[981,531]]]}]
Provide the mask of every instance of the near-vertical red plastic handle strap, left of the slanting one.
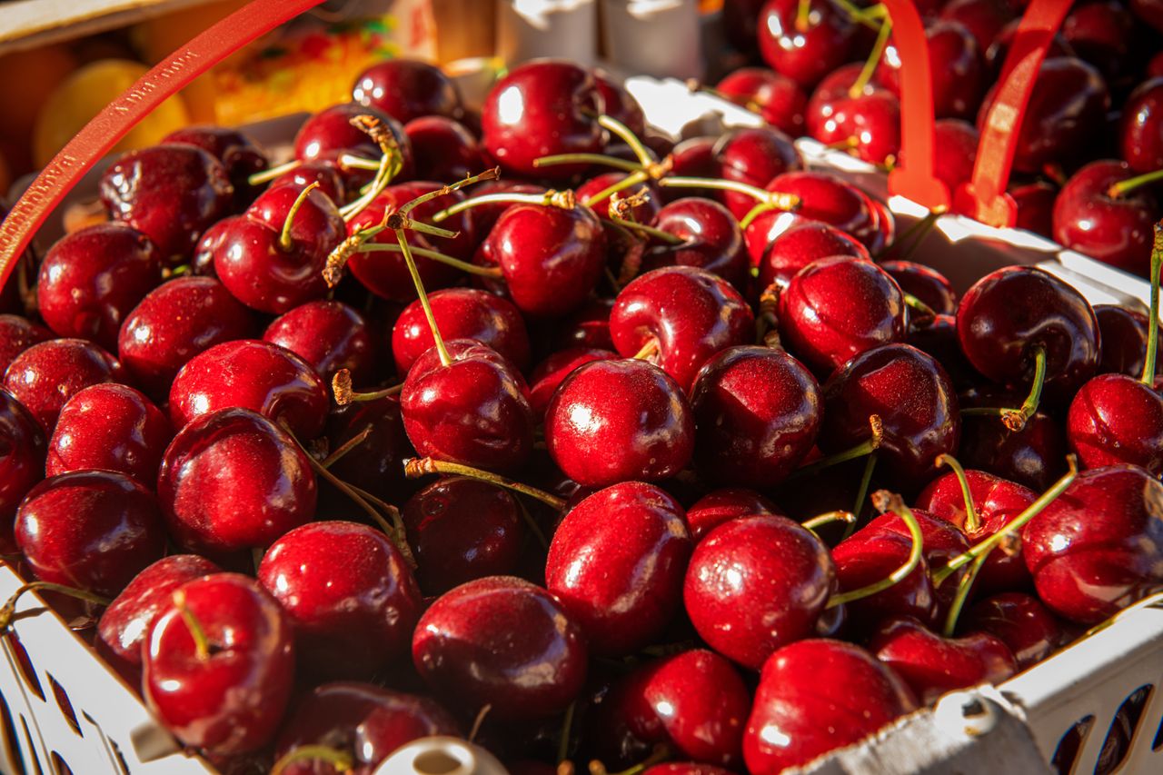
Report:
[{"label": "near-vertical red plastic handle strap, left of the slanting one", "polygon": [[889,192],[929,209],[948,207],[950,192],[933,173],[933,78],[925,24],[913,0],[884,0],[900,55],[901,164],[889,173]]}]

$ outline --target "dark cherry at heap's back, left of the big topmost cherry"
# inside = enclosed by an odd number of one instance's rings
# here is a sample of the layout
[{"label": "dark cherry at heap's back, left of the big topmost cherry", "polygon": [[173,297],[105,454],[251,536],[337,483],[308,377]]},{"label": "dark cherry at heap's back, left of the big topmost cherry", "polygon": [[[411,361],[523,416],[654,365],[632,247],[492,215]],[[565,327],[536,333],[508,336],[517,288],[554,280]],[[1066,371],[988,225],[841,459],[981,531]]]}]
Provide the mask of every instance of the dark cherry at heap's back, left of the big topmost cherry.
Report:
[{"label": "dark cherry at heap's back, left of the big topmost cherry", "polygon": [[377,62],[359,73],[351,99],[383,111],[401,123],[422,116],[456,119],[461,91],[440,67],[419,59]]}]

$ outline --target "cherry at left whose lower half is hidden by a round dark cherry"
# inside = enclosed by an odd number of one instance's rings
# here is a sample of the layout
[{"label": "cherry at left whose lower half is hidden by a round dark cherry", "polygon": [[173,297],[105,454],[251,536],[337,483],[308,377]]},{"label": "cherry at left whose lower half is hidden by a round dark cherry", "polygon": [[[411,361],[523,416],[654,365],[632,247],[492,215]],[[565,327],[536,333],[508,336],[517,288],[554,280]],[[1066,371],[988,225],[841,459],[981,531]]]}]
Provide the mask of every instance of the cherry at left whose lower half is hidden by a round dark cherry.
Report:
[{"label": "cherry at left whose lower half is hidden by a round dark cherry", "polygon": [[234,406],[259,412],[306,441],[323,432],[329,400],[327,385],[306,361],[255,339],[199,353],[170,386],[170,419],[176,429]]}]

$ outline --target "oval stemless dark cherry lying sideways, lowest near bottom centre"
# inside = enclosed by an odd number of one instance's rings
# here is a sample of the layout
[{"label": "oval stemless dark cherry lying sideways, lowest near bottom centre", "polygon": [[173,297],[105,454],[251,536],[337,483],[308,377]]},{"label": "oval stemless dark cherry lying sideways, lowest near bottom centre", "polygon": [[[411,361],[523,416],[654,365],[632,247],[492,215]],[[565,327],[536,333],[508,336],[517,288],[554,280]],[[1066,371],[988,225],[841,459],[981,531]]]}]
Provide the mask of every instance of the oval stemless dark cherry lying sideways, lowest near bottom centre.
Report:
[{"label": "oval stemless dark cherry lying sideways, lowest near bottom centre", "polygon": [[416,625],[412,659],[438,696],[468,713],[486,704],[500,719],[565,710],[585,682],[580,627],[544,589],[512,576],[461,584]]}]

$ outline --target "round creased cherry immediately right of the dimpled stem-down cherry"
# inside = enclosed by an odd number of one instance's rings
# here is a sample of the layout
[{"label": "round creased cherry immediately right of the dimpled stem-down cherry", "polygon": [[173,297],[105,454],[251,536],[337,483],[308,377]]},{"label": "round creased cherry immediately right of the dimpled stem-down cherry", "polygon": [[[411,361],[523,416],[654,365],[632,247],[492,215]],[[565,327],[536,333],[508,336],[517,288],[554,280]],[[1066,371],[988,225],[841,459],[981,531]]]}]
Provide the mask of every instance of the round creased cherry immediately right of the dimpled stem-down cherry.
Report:
[{"label": "round creased cherry immediately right of the dimpled stem-down cherry", "polygon": [[779,294],[779,337],[820,375],[905,339],[905,298],[883,269],[848,256],[801,269]]}]

